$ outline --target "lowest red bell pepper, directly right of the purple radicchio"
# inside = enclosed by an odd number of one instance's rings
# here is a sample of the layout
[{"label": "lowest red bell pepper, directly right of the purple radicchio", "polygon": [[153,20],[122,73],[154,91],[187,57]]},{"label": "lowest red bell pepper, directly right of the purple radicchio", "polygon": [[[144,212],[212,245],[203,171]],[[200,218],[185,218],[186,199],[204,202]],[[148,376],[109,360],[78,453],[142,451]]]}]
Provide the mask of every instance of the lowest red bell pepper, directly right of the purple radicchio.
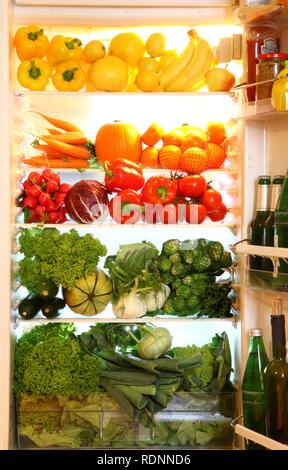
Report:
[{"label": "lowest red bell pepper, directly right of the purple radicchio", "polygon": [[108,208],[118,224],[135,224],[144,212],[143,198],[133,189],[124,189],[111,199]]}]

